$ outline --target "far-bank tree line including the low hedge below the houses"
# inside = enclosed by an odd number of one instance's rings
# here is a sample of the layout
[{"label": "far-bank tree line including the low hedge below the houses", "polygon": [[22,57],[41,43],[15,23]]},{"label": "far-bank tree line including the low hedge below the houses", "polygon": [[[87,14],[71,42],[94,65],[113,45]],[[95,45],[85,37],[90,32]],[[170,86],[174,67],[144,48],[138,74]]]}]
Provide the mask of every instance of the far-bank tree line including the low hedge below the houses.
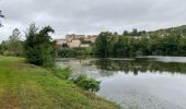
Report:
[{"label": "far-bank tree line including the low hedge below the houses", "polygon": [[186,56],[186,26],[154,32],[101,32],[90,48],[61,48],[60,57]]}]

